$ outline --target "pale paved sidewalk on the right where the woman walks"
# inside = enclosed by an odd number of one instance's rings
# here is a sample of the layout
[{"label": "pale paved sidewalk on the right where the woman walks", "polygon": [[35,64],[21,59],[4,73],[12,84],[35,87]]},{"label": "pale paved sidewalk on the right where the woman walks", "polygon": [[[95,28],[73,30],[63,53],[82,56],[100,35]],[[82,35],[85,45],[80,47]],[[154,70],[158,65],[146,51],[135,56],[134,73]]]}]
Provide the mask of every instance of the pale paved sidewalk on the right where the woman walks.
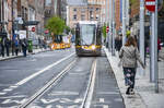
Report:
[{"label": "pale paved sidewalk on the right where the woman walks", "polygon": [[[137,73],[136,79],[136,95],[127,96],[124,81],[122,69],[118,67],[119,58],[118,53],[112,56],[110,52],[104,47],[108,61],[112,65],[114,74],[117,80],[118,87],[120,89],[121,96],[124,98],[126,108],[164,108],[164,84],[160,84],[160,93],[155,93],[154,83],[150,83],[149,74],[149,59],[147,60],[147,69],[144,75]],[[164,60],[159,62],[159,76],[164,80]],[[138,69],[139,71],[139,69]],[[163,81],[164,82],[164,81]]]}]

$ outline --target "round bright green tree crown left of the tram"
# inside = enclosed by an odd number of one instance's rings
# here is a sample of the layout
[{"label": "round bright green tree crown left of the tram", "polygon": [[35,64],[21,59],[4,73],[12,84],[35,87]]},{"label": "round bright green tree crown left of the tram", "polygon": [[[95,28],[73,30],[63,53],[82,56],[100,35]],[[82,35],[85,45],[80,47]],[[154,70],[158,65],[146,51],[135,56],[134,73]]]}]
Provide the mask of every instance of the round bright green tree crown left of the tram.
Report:
[{"label": "round bright green tree crown left of the tram", "polygon": [[61,35],[65,28],[68,28],[65,21],[58,16],[50,17],[46,24],[46,28],[55,35]]}]

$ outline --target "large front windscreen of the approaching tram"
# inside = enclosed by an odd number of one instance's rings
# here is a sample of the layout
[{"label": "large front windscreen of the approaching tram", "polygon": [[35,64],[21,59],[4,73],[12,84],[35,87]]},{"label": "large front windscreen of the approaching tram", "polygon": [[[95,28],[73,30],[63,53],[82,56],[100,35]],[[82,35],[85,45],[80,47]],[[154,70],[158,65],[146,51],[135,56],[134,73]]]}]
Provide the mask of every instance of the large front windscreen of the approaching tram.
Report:
[{"label": "large front windscreen of the approaching tram", "polygon": [[80,26],[80,38],[81,45],[92,45],[94,44],[94,35],[95,35],[95,25],[94,24],[83,24]]}]

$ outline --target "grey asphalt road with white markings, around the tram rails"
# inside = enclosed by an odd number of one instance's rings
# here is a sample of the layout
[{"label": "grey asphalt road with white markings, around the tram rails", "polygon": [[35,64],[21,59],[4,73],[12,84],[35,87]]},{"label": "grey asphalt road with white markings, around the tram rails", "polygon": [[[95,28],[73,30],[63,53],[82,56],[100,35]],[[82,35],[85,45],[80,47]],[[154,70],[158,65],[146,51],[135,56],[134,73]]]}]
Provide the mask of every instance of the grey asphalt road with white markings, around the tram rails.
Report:
[{"label": "grey asphalt road with white markings, around the tram rails", "polygon": [[75,64],[27,108],[80,108],[96,60],[96,76],[90,108],[125,108],[107,58],[81,57],[74,49],[55,50],[0,61],[0,108],[16,108],[57,76],[73,60]]}]

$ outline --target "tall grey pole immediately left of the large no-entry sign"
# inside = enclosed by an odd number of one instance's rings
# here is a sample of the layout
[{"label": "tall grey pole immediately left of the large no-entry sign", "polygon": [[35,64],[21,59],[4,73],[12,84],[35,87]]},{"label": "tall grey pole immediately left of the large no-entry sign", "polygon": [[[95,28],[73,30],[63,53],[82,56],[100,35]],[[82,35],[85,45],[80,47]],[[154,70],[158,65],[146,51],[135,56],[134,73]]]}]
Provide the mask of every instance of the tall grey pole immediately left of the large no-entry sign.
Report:
[{"label": "tall grey pole immediately left of the large no-entry sign", "polygon": [[[140,0],[140,55],[144,62],[144,0]],[[143,69],[140,68],[140,74],[143,75]]]}]

